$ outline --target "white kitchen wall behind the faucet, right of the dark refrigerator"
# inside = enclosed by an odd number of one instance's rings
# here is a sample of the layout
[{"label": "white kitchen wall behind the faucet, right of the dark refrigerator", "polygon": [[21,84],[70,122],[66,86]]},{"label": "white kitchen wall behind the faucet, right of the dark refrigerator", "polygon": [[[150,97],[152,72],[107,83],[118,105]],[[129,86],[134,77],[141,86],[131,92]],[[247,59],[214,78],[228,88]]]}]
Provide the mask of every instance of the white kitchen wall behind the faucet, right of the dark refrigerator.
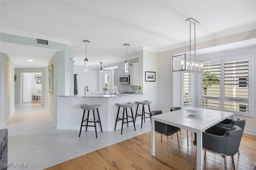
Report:
[{"label": "white kitchen wall behind the faucet, right of the dark refrigerator", "polygon": [[96,94],[96,91],[98,90],[99,71],[91,69],[98,68],[89,67],[88,71],[84,71],[84,66],[74,65],[74,74],[78,74],[78,95],[84,95],[85,86],[88,86],[89,90],[89,92],[86,92],[86,94]]}]

